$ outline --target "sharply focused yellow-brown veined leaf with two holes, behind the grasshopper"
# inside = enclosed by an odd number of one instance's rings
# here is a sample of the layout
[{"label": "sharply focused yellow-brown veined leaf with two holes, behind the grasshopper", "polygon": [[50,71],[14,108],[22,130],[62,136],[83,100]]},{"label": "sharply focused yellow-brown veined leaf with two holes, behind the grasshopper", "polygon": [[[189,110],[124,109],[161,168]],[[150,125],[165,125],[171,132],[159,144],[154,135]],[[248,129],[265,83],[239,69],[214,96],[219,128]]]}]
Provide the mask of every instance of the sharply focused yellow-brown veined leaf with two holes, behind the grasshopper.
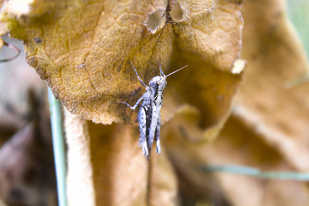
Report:
[{"label": "sharply focused yellow-brown veined leaf with two holes, behind the grasshopper", "polygon": [[[240,9],[240,2],[225,0],[36,0],[25,3],[21,10],[13,0],[3,7],[2,19],[12,36],[25,41],[27,61],[71,113],[111,124],[134,122],[132,111],[117,102],[134,104],[143,92],[128,61],[145,82],[157,76],[160,63],[165,73],[189,65],[174,82],[183,84],[185,80],[187,87],[197,90],[192,95],[201,95],[208,87],[220,91],[205,83],[211,81],[209,71],[222,80],[222,85],[212,82],[215,86],[235,87],[237,81],[226,76],[240,54]],[[213,97],[217,93],[225,96],[217,91],[205,93],[202,100],[194,96],[192,104],[216,105]],[[187,89],[170,88],[169,92],[171,98],[176,95],[183,102],[192,98],[185,93]],[[214,110],[226,113],[228,106],[215,106]],[[163,113],[163,117],[168,115]]]}]

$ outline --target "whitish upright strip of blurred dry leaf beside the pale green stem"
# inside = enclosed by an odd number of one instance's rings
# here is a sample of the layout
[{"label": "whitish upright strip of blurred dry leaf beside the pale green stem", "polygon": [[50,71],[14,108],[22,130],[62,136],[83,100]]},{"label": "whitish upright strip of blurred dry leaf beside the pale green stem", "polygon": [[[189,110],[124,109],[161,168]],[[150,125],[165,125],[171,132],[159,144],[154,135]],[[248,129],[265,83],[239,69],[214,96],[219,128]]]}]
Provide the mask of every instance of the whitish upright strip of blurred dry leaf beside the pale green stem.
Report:
[{"label": "whitish upright strip of blurred dry leaf beside the pale green stem", "polygon": [[[67,199],[69,205],[95,205],[89,130],[86,120],[65,111]],[[82,178],[81,178],[82,177]]]}]

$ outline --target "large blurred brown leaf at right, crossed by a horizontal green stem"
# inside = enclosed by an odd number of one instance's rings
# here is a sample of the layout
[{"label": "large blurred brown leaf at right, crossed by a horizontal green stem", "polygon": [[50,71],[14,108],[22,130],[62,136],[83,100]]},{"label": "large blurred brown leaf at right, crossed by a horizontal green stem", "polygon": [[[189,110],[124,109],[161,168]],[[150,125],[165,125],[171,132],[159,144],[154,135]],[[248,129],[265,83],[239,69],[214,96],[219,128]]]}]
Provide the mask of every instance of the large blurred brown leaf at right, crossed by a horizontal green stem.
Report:
[{"label": "large blurred brown leaf at right, crossed by a horizontal green stem", "polygon": [[[196,120],[184,114],[165,125],[168,131],[163,129],[168,137],[164,144],[184,180],[181,188],[194,200],[209,198],[215,204],[224,200],[230,205],[309,204],[306,183],[199,170],[201,165],[238,164],[274,172],[308,172],[308,84],[286,87],[286,82],[306,72],[308,60],[286,19],[284,5],[281,0],[244,3],[242,58],[248,67],[232,117],[220,136],[210,144],[196,141],[194,136],[200,133],[192,126]],[[209,183],[217,187],[209,189]]]}]

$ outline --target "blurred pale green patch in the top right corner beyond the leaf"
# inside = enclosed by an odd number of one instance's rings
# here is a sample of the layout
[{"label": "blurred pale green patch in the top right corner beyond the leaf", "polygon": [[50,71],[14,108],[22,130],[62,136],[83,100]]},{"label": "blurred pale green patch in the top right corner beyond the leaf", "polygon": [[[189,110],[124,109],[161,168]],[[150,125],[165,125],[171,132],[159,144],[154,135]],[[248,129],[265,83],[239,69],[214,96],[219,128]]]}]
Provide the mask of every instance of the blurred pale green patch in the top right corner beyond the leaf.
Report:
[{"label": "blurred pale green patch in the top right corner beyond the leaf", "polygon": [[295,26],[309,57],[309,0],[287,0],[288,16]]}]

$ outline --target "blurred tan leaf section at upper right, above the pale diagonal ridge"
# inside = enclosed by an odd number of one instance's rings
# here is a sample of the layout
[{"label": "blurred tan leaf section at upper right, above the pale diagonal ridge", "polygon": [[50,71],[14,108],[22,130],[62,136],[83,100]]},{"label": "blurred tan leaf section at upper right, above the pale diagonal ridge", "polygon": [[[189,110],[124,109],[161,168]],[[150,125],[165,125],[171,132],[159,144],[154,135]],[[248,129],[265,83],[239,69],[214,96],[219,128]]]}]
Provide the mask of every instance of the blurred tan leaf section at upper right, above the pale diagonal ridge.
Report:
[{"label": "blurred tan leaf section at upper right, above the pale diagonal ridge", "polygon": [[245,5],[242,58],[249,64],[235,114],[297,170],[308,171],[309,84],[286,87],[308,71],[306,52],[286,18],[284,1]]}]

